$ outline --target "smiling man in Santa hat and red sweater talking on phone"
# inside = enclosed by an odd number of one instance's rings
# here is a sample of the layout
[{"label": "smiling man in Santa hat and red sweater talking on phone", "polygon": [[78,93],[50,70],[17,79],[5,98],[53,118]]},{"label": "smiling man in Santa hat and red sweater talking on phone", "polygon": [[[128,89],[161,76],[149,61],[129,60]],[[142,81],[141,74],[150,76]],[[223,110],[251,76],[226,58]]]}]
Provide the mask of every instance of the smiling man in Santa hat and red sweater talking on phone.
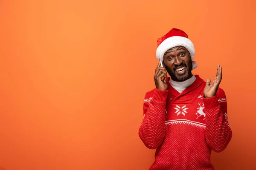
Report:
[{"label": "smiling man in Santa hat and red sweater talking on phone", "polygon": [[[204,82],[192,74],[195,49],[187,34],[173,28],[157,40],[156,88],[145,94],[139,136],[157,149],[150,170],[214,170],[211,150],[221,152],[230,142],[227,99],[215,79]],[[167,73],[170,77],[167,77]]]}]

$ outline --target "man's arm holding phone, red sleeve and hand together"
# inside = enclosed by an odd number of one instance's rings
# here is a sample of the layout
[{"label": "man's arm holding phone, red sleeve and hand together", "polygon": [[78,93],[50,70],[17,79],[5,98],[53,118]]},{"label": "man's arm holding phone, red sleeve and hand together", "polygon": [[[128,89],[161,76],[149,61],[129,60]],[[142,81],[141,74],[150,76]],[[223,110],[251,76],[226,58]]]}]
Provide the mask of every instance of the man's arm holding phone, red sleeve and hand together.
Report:
[{"label": "man's arm holding phone, red sleeve and hand together", "polygon": [[156,149],[162,144],[166,132],[167,71],[165,67],[160,66],[159,61],[154,75],[156,88],[145,95],[143,122],[139,129],[140,139],[150,149]]}]

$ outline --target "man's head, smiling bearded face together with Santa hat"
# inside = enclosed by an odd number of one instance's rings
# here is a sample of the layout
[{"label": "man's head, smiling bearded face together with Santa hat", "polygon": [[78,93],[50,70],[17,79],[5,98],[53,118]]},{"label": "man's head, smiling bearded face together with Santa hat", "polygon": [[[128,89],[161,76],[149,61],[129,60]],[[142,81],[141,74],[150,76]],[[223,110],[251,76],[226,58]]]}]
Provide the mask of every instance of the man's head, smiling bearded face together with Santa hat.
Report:
[{"label": "man's head, smiling bearded face together with Santa hat", "polygon": [[[175,81],[185,81],[192,77],[192,69],[197,67],[193,61],[195,48],[188,35],[177,28],[157,40],[157,59],[163,61],[166,70]],[[184,70],[180,70],[182,67]]]}]

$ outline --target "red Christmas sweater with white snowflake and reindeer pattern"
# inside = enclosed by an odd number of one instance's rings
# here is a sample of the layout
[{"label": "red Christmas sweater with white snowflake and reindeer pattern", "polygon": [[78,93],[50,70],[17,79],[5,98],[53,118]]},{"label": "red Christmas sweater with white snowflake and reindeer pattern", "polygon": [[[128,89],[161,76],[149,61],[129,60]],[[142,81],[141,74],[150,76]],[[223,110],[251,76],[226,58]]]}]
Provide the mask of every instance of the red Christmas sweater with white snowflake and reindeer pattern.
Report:
[{"label": "red Christmas sweater with white snowflake and reindeer pattern", "polygon": [[214,170],[211,150],[221,152],[230,142],[224,91],[219,88],[206,99],[206,82],[195,77],[182,93],[168,77],[166,91],[155,88],[145,94],[139,136],[146,147],[157,149],[149,170]]}]

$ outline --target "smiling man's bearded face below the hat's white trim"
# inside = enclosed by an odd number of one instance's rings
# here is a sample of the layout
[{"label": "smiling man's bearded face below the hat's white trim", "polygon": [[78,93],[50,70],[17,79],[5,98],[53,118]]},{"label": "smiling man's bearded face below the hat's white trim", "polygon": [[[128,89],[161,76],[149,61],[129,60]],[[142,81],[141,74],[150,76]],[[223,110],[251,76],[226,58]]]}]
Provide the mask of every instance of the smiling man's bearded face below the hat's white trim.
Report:
[{"label": "smiling man's bearded face below the hat's white trim", "polygon": [[185,47],[177,46],[166,51],[163,62],[172,80],[183,82],[192,77],[192,60]]}]

